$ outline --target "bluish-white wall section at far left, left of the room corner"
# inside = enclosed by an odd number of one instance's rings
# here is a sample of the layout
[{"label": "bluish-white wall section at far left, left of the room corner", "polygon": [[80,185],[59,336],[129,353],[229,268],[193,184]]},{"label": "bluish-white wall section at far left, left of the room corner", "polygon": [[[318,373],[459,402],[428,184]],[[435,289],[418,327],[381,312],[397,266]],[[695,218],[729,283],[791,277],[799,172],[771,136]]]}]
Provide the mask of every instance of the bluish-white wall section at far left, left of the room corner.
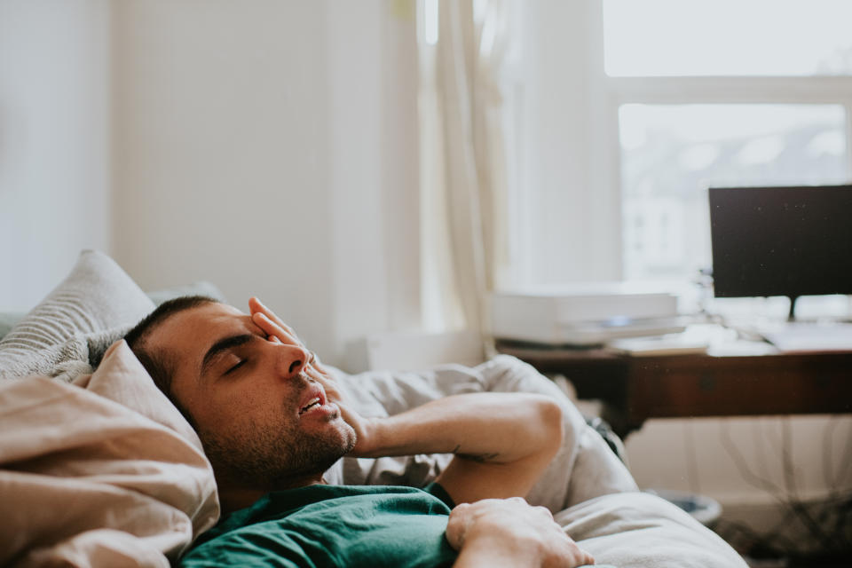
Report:
[{"label": "bluish-white wall section at far left, left of the room corner", "polygon": [[106,0],[0,0],[0,310],[108,249]]}]

